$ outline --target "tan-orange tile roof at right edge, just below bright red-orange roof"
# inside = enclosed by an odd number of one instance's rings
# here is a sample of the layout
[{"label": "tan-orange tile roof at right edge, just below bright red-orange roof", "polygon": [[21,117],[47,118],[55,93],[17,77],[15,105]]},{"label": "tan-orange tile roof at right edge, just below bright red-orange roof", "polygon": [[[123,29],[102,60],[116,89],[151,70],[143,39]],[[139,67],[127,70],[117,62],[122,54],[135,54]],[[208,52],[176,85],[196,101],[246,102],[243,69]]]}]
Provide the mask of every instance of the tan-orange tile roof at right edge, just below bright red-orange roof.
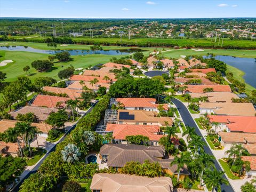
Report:
[{"label": "tan-orange tile roof at right edge, just below bright red-orange roof", "polygon": [[223,142],[229,143],[256,143],[255,133],[239,133],[239,132],[218,132]]}]

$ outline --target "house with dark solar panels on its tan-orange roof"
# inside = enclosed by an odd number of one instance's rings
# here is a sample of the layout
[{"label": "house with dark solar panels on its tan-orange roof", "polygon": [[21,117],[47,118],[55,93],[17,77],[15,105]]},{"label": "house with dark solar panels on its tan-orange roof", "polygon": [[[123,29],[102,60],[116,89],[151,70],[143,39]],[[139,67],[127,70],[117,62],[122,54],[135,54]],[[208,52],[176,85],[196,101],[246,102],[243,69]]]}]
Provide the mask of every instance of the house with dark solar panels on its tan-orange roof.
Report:
[{"label": "house with dark solar panels on its tan-orange roof", "polygon": [[171,117],[158,117],[154,111],[145,110],[118,110],[117,123],[125,125],[158,125],[172,126]]}]

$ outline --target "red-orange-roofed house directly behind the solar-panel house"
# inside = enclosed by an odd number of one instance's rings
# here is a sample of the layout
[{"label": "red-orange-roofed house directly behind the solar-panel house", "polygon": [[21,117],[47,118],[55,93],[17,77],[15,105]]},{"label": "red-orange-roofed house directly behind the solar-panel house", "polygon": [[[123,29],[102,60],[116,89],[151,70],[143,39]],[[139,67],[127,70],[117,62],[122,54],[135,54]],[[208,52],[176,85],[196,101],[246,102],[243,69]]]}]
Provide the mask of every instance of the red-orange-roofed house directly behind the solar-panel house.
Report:
[{"label": "red-orange-roofed house directly behind the solar-panel house", "polygon": [[169,105],[156,104],[156,99],[154,98],[117,98],[117,102],[122,103],[124,108],[127,110],[146,110],[146,111],[156,111],[159,112],[158,108],[163,107],[164,111],[167,111]]}]

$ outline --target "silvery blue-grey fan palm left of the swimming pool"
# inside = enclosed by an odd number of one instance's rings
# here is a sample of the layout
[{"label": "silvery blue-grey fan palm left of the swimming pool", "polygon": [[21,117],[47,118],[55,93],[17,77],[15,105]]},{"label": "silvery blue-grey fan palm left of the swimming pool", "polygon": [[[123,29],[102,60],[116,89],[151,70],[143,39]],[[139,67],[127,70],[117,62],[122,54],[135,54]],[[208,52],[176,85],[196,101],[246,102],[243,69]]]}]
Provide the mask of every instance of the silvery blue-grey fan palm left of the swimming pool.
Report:
[{"label": "silvery blue-grey fan palm left of the swimming pool", "polygon": [[81,153],[79,152],[79,149],[74,145],[68,143],[66,147],[64,147],[63,150],[61,150],[62,159],[65,162],[73,163],[75,161],[79,160],[79,156],[81,156]]}]

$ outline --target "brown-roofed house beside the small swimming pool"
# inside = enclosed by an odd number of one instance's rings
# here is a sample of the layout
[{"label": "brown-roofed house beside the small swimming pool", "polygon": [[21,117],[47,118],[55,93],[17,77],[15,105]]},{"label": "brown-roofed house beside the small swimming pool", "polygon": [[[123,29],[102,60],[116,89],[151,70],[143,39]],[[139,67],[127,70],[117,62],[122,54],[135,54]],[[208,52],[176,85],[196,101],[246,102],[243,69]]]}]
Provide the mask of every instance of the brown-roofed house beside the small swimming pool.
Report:
[{"label": "brown-roofed house beside the small swimming pool", "polygon": [[[123,144],[107,144],[100,148],[100,158],[107,163],[108,167],[114,167],[117,171],[121,171],[127,162],[144,163],[148,160],[150,163],[158,162],[163,172],[178,175],[177,165],[170,165],[173,158],[166,158],[165,149],[161,146],[142,146],[142,145],[123,145]],[[183,180],[189,175],[185,167],[180,171],[180,179]]]}]

